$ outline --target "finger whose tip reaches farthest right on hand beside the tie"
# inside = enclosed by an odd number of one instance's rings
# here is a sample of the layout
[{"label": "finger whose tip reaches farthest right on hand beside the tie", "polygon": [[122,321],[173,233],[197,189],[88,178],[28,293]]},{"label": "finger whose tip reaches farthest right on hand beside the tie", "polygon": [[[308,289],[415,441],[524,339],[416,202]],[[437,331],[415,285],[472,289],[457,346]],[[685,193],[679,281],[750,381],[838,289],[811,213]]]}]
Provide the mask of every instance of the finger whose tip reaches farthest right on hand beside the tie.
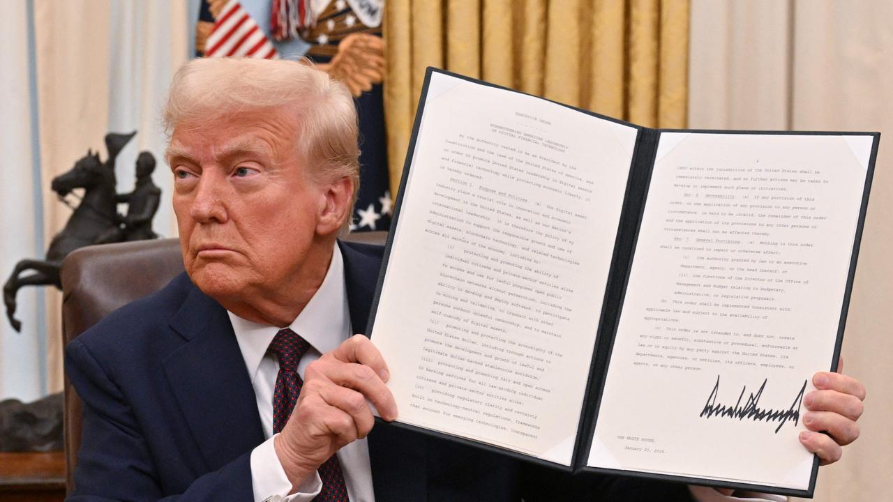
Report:
[{"label": "finger whose tip reaches farthest right on hand beside the tie", "polygon": [[393,394],[375,370],[366,364],[318,359],[307,366],[305,376],[307,381],[322,379],[354,389],[375,405],[381,418],[388,421],[396,418],[396,402]]}]

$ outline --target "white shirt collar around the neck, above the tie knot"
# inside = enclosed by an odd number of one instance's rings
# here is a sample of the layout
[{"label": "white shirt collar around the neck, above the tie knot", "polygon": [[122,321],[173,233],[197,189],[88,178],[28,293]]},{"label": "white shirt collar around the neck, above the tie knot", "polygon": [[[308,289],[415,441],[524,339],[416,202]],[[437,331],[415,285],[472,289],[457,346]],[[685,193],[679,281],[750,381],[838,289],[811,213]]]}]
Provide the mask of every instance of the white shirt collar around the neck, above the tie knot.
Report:
[{"label": "white shirt collar around the neck, above the tie knot", "polygon": [[[232,330],[236,333],[238,347],[242,351],[242,357],[245,358],[248,374],[254,381],[267,347],[270,347],[280,328],[242,319],[230,311],[227,311],[227,314],[230,315]],[[334,350],[350,337],[350,311],[347,307],[344,282],[344,259],[338,246],[332,249],[329,271],[322,279],[320,288],[288,327],[307,340],[320,354]]]}]

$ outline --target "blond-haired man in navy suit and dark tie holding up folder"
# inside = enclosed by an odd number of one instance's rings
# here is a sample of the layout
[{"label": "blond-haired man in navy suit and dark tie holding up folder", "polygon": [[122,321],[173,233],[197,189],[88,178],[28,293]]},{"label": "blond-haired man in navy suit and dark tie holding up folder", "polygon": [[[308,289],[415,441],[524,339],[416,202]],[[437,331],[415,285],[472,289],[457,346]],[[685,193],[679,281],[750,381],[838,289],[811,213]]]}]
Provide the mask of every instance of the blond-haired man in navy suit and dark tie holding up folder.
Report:
[{"label": "blond-haired man in navy suit and dark tie holding up folder", "polygon": [[[164,123],[186,273],[67,347],[85,405],[72,500],[723,497],[373,428],[368,403],[388,421],[398,410],[387,362],[354,334],[382,249],[336,238],[359,179],[346,88],[306,63],[196,60]],[[832,462],[858,435],[864,389],[819,376],[807,427],[829,435],[802,441]]]}]

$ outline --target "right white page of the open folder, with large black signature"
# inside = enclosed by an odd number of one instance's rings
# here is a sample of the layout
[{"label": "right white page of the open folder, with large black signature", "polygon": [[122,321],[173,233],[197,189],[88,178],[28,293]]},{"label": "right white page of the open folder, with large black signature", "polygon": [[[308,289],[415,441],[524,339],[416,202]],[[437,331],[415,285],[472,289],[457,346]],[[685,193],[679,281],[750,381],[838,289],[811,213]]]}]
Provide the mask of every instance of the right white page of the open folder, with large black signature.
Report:
[{"label": "right white page of the open folder, with large black signature", "polygon": [[808,488],[871,147],[661,135],[589,465]]}]

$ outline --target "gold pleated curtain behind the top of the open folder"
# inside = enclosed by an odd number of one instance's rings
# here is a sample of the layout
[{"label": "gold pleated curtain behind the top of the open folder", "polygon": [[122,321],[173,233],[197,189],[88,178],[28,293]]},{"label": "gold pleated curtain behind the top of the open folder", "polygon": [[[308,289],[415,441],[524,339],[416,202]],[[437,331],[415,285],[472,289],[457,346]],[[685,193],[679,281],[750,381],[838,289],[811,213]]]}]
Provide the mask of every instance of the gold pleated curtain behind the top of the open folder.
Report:
[{"label": "gold pleated curtain behind the top of the open folder", "polygon": [[392,194],[427,66],[638,125],[686,125],[689,0],[388,0],[384,37]]}]

